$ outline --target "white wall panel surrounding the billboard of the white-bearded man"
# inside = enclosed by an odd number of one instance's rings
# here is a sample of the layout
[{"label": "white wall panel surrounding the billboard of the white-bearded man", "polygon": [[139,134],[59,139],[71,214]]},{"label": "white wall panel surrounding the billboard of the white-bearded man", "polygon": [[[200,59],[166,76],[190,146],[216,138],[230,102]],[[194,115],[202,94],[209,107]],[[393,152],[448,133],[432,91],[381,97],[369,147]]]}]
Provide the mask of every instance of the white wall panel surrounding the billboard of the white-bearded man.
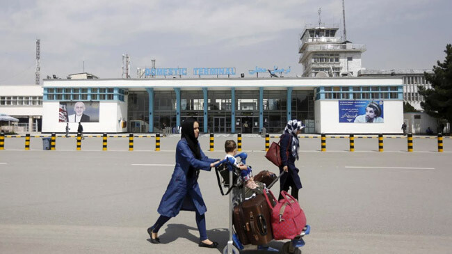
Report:
[{"label": "white wall panel surrounding the billboard of the white-bearded man", "polygon": [[[65,132],[66,122],[58,122],[60,102],[45,102],[42,112],[42,132]],[[82,122],[86,133],[125,132],[120,120],[127,120],[127,104],[124,102],[99,102],[99,122]],[[79,123],[70,122],[71,132],[76,131]]]}]

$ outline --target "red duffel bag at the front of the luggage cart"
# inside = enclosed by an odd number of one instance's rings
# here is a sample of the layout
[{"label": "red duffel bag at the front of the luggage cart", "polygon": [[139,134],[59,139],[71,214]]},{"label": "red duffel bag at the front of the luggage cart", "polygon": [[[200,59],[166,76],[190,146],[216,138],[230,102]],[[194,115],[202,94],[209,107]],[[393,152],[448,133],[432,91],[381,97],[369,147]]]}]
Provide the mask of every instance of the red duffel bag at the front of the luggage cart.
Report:
[{"label": "red duffel bag at the front of the luggage cart", "polygon": [[[268,190],[273,200],[276,200],[273,193]],[[268,207],[271,208],[271,227],[273,230],[273,238],[275,240],[293,239],[300,235],[303,228],[306,226],[305,212],[293,196],[290,196],[286,191],[281,191],[284,199],[280,200],[275,207],[268,198],[268,194],[264,191],[264,196],[267,200]]]}]

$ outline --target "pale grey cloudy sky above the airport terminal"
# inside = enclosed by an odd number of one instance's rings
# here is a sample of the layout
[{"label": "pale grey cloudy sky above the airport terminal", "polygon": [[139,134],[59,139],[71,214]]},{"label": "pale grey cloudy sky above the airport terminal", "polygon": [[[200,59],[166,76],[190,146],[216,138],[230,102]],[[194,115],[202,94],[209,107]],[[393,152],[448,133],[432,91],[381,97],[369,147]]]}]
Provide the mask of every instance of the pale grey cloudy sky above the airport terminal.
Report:
[{"label": "pale grey cloudy sky above the airport terminal", "polygon": [[[298,63],[305,24],[340,24],[341,0],[114,1],[0,0],[0,84],[35,84],[35,40],[41,79],[85,72],[122,76],[122,54],[136,69],[289,68]],[[452,43],[451,0],[346,0],[347,39],[365,44],[367,69],[432,69]],[[342,32],[340,32],[342,33]],[[253,75],[254,76],[254,75]],[[42,82],[42,81],[41,81]],[[41,83],[42,84],[42,83]]]}]

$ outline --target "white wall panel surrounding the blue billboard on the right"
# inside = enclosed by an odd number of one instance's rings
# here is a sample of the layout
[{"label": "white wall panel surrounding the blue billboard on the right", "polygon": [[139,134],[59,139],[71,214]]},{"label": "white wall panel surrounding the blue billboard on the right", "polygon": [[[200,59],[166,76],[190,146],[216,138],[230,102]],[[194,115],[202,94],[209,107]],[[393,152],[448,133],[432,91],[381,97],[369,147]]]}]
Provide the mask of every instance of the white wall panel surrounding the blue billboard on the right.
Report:
[{"label": "white wall panel surrounding the blue billboard on the right", "polygon": [[[339,102],[318,100],[315,104],[316,131],[325,134],[401,134],[403,102],[385,101],[383,123],[339,122]],[[318,122],[320,118],[320,122]]]}]

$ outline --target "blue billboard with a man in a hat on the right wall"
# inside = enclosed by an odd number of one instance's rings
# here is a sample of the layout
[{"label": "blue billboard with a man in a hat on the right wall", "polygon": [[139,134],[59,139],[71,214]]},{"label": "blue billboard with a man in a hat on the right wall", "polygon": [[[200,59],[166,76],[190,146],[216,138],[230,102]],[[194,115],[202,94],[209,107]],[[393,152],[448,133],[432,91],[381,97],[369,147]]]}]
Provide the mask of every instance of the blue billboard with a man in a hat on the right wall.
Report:
[{"label": "blue billboard with a man in a hat on the right wall", "polygon": [[339,122],[384,122],[384,118],[383,101],[339,101]]}]

